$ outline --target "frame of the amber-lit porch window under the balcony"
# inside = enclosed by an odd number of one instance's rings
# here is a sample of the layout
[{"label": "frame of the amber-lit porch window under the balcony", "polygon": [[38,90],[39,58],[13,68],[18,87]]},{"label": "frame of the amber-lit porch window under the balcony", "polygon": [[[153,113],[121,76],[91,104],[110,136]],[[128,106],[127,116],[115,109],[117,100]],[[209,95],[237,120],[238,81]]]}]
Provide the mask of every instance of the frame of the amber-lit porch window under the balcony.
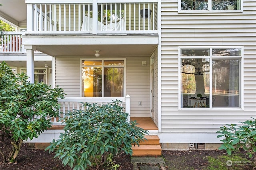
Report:
[{"label": "frame of the amber-lit porch window under the balcony", "polygon": [[[96,59],[80,59],[80,97],[82,97],[82,61],[102,61],[102,73],[104,72],[104,68],[109,67],[123,67],[124,68],[124,96],[126,96],[126,59],[125,58],[96,58]],[[124,61],[124,66],[104,66],[104,61]],[[97,65],[99,66],[99,65]],[[104,80],[104,74],[102,74],[102,80]],[[102,81],[104,84],[104,81]],[[102,86],[102,95],[104,95],[104,88]],[[97,97],[83,97],[83,98],[97,98]],[[98,97],[98,98],[112,98],[112,97]],[[113,97],[114,98],[114,97]],[[122,97],[121,97],[122,98]]]}]

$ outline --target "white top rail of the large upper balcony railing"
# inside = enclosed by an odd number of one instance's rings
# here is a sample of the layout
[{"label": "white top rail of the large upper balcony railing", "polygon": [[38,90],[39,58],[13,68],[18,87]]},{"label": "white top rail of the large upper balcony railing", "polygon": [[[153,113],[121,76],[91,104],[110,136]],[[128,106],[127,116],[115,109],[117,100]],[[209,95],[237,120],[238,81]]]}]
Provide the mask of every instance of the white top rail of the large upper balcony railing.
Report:
[{"label": "white top rail of the large upper balcony railing", "polygon": [[[88,4],[94,0],[26,0],[26,4]],[[143,2],[158,2],[158,0],[98,0],[96,3],[143,3]]]}]

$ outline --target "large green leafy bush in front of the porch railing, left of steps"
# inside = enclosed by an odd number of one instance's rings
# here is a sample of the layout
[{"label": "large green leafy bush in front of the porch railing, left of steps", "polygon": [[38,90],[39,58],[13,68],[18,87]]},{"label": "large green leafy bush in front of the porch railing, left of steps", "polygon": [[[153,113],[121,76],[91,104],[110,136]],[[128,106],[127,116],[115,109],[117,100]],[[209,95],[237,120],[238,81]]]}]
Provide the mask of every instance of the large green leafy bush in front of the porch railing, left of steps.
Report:
[{"label": "large green leafy bush in front of the porch railing, left of steps", "polygon": [[[147,131],[136,127],[135,122],[128,122],[128,113],[119,106],[120,101],[97,106],[84,103],[85,110],[74,110],[65,115],[65,133],[60,139],[53,140],[46,148],[56,153],[55,157],[62,160],[74,170],[86,169],[92,166],[91,158],[96,166],[110,166],[115,158],[122,154],[132,154],[132,145],[139,145],[145,139]],[[101,159],[97,158],[101,155]]]}]

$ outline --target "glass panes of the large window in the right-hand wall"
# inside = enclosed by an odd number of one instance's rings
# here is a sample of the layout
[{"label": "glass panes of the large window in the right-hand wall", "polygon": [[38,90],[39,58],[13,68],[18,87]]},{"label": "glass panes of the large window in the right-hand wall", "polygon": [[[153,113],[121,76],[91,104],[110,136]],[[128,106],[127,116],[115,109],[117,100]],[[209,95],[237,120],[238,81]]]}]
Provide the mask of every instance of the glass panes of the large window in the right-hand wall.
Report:
[{"label": "glass panes of the large window in the right-hand wall", "polygon": [[180,48],[180,107],[241,107],[242,48]]}]

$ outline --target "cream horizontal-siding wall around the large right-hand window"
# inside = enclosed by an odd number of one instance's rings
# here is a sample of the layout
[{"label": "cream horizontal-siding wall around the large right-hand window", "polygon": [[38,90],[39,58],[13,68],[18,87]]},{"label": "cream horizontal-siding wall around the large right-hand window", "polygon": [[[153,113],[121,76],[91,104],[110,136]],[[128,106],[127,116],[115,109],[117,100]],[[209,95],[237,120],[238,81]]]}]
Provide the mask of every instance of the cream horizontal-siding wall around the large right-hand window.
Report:
[{"label": "cream horizontal-siding wall around the large right-hand window", "polygon": [[[178,0],[162,2],[161,143],[220,143],[219,127],[256,117],[256,2],[244,0],[242,13],[180,13]],[[244,109],[178,110],[179,46],[244,46]],[[167,135],[169,134],[169,135]]]}]

